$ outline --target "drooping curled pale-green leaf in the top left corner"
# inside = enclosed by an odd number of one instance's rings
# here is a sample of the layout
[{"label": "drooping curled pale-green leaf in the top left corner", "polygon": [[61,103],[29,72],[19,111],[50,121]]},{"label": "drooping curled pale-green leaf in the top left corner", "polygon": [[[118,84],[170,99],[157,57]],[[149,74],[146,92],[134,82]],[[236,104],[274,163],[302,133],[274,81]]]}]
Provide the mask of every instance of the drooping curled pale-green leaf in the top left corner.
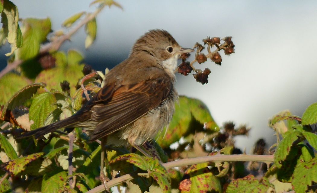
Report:
[{"label": "drooping curled pale-green leaf in the top left corner", "polygon": [[11,44],[11,52],[5,54],[10,56],[14,50],[23,45],[21,29],[19,27],[19,12],[15,4],[6,0],[3,3],[3,11],[1,13],[1,23],[4,35]]}]

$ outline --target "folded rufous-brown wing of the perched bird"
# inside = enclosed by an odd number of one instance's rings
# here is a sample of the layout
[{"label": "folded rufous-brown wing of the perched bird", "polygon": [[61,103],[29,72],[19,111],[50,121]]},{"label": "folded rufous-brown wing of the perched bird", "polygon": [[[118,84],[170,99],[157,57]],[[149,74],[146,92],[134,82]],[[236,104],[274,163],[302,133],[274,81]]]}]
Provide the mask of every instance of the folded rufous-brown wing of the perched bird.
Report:
[{"label": "folded rufous-brown wing of the perched bird", "polygon": [[[91,108],[91,118],[99,123],[91,140],[117,131],[159,106],[167,98],[172,87],[171,78],[161,73],[139,83],[119,87],[106,103],[100,103],[102,96],[95,96],[94,99],[100,104]],[[98,95],[107,95],[107,91],[101,90]]]}]

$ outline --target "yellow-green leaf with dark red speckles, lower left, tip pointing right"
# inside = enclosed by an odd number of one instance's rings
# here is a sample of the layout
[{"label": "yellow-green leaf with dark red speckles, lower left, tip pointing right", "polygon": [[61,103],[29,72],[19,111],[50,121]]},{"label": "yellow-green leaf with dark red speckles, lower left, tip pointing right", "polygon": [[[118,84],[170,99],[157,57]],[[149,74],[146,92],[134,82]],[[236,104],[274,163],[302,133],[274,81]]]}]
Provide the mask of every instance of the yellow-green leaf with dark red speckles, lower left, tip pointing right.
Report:
[{"label": "yellow-green leaf with dark red speckles, lower left, tip pointing right", "polygon": [[16,176],[20,172],[24,171],[30,162],[36,160],[37,158],[42,157],[42,155],[44,155],[44,153],[39,152],[39,153],[30,154],[26,157],[16,158],[2,164],[1,168],[9,172],[10,174],[13,174]]}]

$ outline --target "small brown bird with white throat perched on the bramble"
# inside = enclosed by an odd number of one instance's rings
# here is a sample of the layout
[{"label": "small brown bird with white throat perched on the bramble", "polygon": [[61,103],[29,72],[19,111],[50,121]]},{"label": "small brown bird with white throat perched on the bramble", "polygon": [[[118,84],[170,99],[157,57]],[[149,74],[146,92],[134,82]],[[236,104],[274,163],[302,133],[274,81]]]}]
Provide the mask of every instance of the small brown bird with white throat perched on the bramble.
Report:
[{"label": "small brown bird with white throat perched on the bramble", "polygon": [[77,113],[32,130],[19,138],[36,138],[62,127],[93,129],[90,140],[108,136],[107,144],[131,144],[139,151],[167,125],[178,98],[174,70],[182,48],[165,30],[150,30],[134,44],[130,56],[105,76],[105,86]]}]

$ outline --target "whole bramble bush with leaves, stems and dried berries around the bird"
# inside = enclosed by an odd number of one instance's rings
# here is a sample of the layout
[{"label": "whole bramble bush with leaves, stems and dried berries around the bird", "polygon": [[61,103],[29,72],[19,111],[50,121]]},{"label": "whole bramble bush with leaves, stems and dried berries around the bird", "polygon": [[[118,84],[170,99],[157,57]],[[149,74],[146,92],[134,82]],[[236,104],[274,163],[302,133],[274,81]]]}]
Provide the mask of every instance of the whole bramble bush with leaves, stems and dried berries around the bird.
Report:
[{"label": "whole bramble bush with leaves, stems and dried berries around the bird", "polygon": [[[75,14],[62,23],[62,30],[52,32],[49,18],[21,19],[12,2],[0,1],[0,42],[11,46],[8,64],[0,72],[0,192],[105,191],[99,180],[100,141],[88,143],[85,130],[60,129],[39,139],[15,139],[21,132],[71,116],[103,86],[108,69],[94,71],[82,63],[78,51],[59,50],[81,27],[89,48],[96,38],[98,13],[112,5],[122,9],[112,0],[92,4],[97,5],[93,13]],[[211,70],[194,64],[210,59],[221,65],[221,53],[234,53],[231,39],[207,37],[204,46],[197,42],[194,60],[181,55],[176,72],[208,83]],[[302,117],[278,113],[269,120],[276,144],[266,149],[259,139],[253,154],[247,155],[234,141],[237,135],[248,135],[246,125],[219,126],[202,101],[180,96],[169,127],[142,147],[153,158],[130,147],[107,146],[107,186],[119,192],[126,187],[130,193],[314,192],[316,123],[317,103]]]}]

